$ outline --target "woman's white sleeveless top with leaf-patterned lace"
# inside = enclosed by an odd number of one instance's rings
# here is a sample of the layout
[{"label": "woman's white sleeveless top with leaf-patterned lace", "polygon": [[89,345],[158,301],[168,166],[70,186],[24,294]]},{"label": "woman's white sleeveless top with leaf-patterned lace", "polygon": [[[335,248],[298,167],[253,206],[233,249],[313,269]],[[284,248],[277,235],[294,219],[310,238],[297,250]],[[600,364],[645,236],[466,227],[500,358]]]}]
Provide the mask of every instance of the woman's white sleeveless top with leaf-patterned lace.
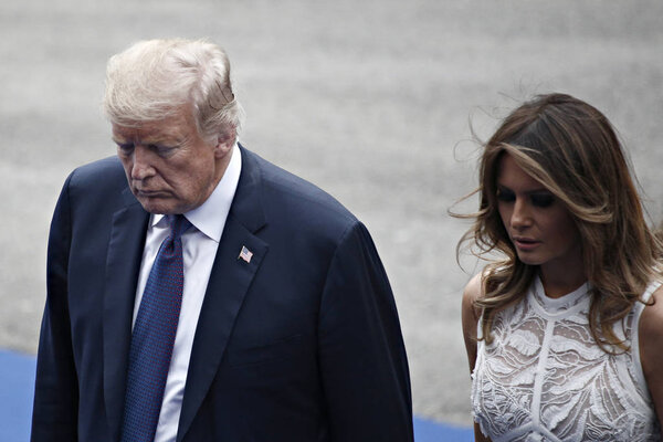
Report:
[{"label": "woman's white sleeveless top with leaf-patterned lace", "polygon": [[661,441],[640,362],[644,305],[615,325],[629,349],[609,355],[590,334],[588,291],[586,283],[549,298],[536,277],[520,303],[495,316],[493,343],[477,343],[473,417],[493,442]]}]

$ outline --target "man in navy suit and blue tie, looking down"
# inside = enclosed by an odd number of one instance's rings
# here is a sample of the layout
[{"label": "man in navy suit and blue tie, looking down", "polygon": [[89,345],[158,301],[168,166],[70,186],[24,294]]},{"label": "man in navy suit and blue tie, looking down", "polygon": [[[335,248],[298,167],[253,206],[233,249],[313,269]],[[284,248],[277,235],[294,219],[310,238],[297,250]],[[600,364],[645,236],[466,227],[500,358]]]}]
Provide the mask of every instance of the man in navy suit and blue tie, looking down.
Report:
[{"label": "man in navy suit and blue tie, looking down", "polygon": [[104,106],[118,158],[76,169],[51,225],[32,440],[411,441],[372,241],[238,145],[223,51],[137,43]]}]

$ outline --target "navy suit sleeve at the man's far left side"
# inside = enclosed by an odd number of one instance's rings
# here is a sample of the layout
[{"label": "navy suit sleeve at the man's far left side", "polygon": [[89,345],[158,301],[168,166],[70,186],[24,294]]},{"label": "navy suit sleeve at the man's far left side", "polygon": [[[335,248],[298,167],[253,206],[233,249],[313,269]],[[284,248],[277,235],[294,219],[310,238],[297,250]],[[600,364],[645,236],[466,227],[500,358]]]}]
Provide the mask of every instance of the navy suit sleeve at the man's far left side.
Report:
[{"label": "navy suit sleeve at the man's far left side", "polygon": [[67,178],[49,234],[46,305],[36,359],[32,442],[77,440],[78,387],[67,305],[71,217]]}]

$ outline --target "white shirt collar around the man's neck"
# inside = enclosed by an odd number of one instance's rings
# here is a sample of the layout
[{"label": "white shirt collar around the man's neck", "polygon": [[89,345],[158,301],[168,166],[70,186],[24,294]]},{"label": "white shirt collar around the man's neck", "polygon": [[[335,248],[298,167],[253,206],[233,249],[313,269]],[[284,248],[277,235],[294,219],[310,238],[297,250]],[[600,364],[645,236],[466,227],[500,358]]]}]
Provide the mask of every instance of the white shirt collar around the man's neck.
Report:
[{"label": "white shirt collar around the man's neck", "polygon": [[[212,194],[201,206],[185,213],[185,217],[187,217],[196,229],[217,242],[221,241],[221,234],[223,233],[225,219],[230,212],[232,199],[238,189],[241,171],[242,152],[235,143],[232,148],[230,162]],[[164,214],[152,214],[151,227],[160,224],[164,218]]]}]

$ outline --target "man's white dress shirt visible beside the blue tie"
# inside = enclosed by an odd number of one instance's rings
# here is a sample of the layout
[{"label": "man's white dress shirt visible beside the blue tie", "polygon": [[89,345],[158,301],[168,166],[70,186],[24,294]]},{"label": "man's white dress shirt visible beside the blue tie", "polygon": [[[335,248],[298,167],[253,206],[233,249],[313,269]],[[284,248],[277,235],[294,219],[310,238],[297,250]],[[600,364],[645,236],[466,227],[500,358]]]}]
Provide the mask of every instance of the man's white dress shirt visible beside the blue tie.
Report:
[{"label": "man's white dress shirt visible beside the blue tie", "polygon": [[[219,241],[221,241],[221,233],[240,180],[241,169],[242,155],[235,144],[228,168],[212,194],[202,206],[185,213],[185,217],[192,224],[182,235],[185,287],[155,442],[173,442],[177,436],[189,359],[193,347],[193,336]],[[138,275],[138,286],[136,287],[134,323],[136,322],[140,299],[143,299],[147,277],[157,257],[159,246],[168,236],[169,230],[168,222],[162,214],[150,215]]]}]

